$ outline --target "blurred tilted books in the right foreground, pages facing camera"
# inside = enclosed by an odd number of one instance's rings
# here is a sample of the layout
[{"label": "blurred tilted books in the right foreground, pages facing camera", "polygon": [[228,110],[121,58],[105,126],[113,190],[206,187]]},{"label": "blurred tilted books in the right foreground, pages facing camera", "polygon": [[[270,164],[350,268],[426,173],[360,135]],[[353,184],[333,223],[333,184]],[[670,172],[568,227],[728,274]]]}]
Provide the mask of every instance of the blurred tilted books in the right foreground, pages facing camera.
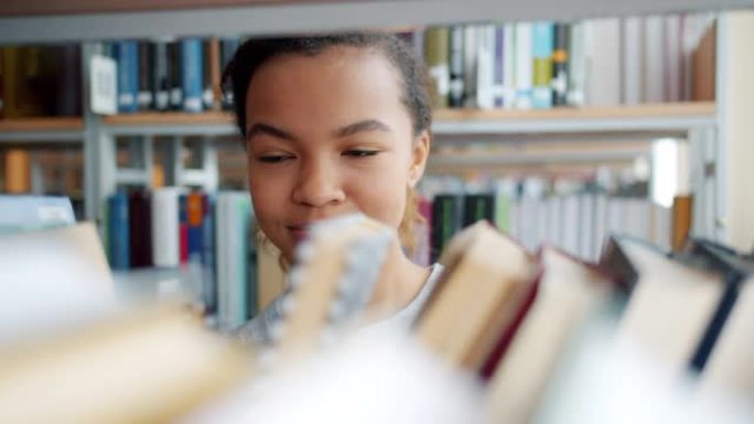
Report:
[{"label": "blurred tilted books in the right foreground, pages facing camera", "polygon": [[[729,401],[752,393],[751,257],[705,240],[669,253],[614,236],[585,262],[551,247],[535,256],[482,226],[443,261],[418,337],[486,381],[492,422],[583,418],[616,396],[635,414],[628,421],[644,421],[649,404],[688,418],[710,391]],[[621,387],[631,389],[607,390]]]}]

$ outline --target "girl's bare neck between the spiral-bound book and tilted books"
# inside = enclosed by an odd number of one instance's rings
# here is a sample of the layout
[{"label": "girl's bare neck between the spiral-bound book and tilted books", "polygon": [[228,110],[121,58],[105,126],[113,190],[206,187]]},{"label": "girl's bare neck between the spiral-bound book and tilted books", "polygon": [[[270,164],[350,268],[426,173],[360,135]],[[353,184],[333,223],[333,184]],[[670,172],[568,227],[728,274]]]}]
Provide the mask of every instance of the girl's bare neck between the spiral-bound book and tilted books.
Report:
[{"label": "girl's bare neck between the spiral-bound book and tilted books", "polygon": [[413,263],[394,242],[367,305],[367,316],[378,319],[405,308],[419,295],[428,276],[429,269]]}]

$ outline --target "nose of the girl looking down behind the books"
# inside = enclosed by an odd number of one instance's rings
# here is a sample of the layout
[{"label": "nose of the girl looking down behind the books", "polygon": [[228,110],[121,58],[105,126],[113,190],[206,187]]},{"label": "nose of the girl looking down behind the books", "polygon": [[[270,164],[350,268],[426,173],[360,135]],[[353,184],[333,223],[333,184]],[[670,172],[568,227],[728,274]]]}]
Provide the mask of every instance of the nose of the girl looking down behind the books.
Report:
[{"label": "nose of the girl looking down behind the books", "polygon": [[306,161],[293,189],[293,202],[322,207],[345,200],[345,192],[336,166],[324,160]]}]

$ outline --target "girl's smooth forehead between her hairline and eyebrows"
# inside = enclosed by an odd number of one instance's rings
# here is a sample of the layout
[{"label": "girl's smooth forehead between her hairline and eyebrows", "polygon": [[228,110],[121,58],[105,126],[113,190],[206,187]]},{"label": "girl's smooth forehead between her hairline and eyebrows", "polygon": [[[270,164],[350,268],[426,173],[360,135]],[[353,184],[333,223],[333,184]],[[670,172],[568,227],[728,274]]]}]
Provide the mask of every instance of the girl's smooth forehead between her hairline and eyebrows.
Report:
[{"label": "girl's smooth forehead between her hairline and eyebrows", "polygon": [[284,54],[261,65],[247,91],[247,119],[331,122],[408,118],[400,77],[375,48],[335,46],[314,56]]}]

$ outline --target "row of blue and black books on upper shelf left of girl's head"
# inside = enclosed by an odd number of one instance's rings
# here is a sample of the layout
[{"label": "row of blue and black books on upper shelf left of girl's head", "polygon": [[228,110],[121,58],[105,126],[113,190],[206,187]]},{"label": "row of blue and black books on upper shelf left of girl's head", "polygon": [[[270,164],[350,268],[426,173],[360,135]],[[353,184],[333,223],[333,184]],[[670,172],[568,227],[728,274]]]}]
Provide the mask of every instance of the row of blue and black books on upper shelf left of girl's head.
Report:
[{"label": "row of blue and black books on upper shelf left of girl's head", "polygon": [[118,111],[184,110],[201,112],[229,108],[223,98],[222,69],[239,39],[118,41],[104,54],[117,61]]}]

